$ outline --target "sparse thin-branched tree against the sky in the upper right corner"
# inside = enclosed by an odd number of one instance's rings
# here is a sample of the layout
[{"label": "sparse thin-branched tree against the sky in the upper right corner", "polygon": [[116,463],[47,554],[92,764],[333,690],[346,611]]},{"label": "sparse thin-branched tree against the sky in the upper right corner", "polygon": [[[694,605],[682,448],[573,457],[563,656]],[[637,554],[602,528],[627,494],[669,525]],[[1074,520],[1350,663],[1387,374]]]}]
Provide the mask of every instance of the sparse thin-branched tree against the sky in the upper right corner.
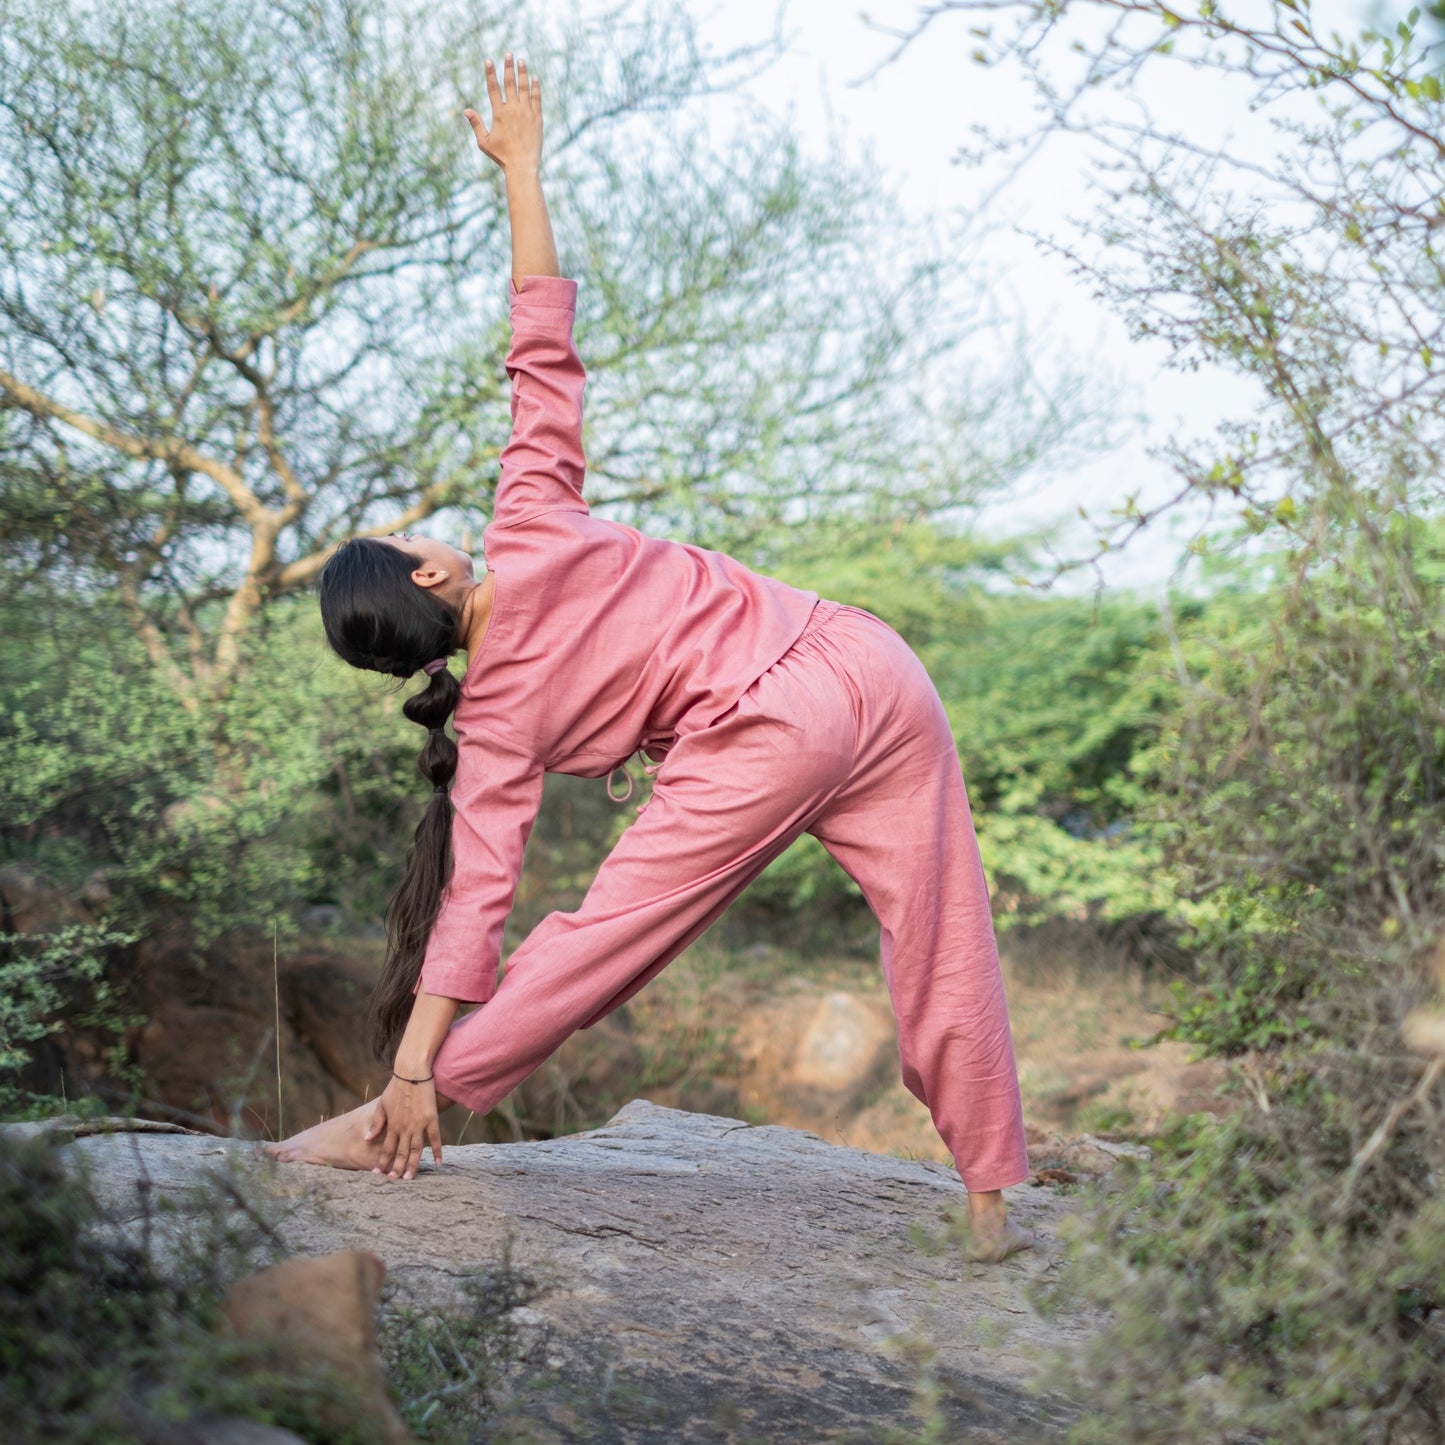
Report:
[{"label": "sparse thin-branched tree against the sky in the upper right corner", "polygon": [[[1308,0],[1250,16],[1214,0],[941,0],[900,45],[968,19],[974,59],[1029,87],[1032,127],[968,156],[1026,165],[1062,136],[1094,147],[1094,218],[1043,243],[1173,366],[1260,384],[1260,413],[1222,445],[1170,445],[1183,488],[1163,506],[1235,504],[1308,566],[1370,514],[1445,496],[1445,91],[1419,12],[1358,38],[1327,32]],[[1136,92],[1170,64],[1215,74],[1225,100],[1243,91],[1273,144],[1156,118]],[[1121,545],[1160,510],[1120,499],[1101,540]]]}]

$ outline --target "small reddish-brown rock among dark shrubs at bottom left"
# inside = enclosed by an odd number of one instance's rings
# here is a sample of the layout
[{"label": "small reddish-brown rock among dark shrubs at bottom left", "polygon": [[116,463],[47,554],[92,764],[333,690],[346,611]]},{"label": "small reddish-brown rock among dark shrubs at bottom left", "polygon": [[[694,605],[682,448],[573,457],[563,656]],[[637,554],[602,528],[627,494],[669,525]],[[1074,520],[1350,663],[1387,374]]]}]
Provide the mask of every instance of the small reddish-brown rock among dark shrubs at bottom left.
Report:
[{"label": "small reddish-brown rock among dark shrubs at bottom left", "polygon": [[379,1439],[410,1441],[386,1393],[376,1347],[376,1306],[386,1266],[367,1250],[289,1259],[243,1279],[221,1314],[243,1337],[280,1344],[301,1377],[325,1371],[355,1392]]}]

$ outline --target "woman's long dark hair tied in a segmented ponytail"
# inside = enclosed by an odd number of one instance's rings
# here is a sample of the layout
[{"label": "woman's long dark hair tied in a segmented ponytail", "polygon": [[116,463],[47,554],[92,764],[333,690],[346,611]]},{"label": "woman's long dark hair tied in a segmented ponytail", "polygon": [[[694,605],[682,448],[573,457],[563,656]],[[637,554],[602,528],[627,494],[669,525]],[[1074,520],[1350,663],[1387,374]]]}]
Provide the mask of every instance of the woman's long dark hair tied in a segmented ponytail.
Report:
[{"label": "woman's long dark hair tied in a segmented ponytail", "polygon": [[[321,621],[327,642],[353,668],[410,678],[426,663],[461,647],[457,613],[412,581],[420,559],[387,542],[345,542],[321,574]],[[457,776],[457,744],[447,720],[461,698],[461,683],[438,669],[402,712],[426,728],[416,760],[432,785],[432,798],[416,825],[406,877],[386,913],[386,967],[371,996],[371,1048],[390,1062],[412,1013],[422,977],[426,939],[451,883],[451,782]]]}]

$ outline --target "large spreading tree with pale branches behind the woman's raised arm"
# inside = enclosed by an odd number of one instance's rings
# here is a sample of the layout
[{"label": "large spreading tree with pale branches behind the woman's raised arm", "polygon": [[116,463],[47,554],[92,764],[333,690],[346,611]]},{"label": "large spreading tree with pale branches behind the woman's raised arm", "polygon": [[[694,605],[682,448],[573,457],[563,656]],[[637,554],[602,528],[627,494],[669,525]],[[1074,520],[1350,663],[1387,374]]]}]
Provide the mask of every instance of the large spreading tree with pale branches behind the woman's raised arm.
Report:
[{"label": "large spreading tree with pale branches behind the woman's raised arm", "polygon": [[[504,215],[457,110],[527,36],[460,0],[0,17],[0,553],[113,590],[201,715],[338,540],[487,516]],[[600,506],[746,542],[857,493],[946,509],[998,470],[923,477],[928,428],[899,423],[965,329],[926,321],[946,267],[779,124],[724,149],[689,118],[760,52],[704,53],[666,7],[522,27],[587,282]]]}]

